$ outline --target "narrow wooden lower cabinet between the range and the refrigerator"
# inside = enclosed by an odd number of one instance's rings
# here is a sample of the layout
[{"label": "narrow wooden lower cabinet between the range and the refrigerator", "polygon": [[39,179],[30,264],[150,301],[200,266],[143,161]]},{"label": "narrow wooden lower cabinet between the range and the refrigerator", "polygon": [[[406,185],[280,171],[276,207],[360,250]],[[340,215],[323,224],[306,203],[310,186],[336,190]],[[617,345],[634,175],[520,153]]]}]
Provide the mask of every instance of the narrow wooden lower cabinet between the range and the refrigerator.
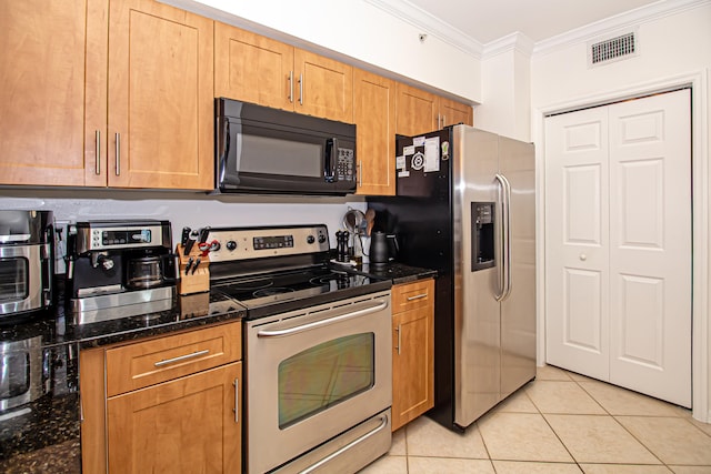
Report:
[{"label": "narrow wooden lower cabinet between the range and the refrigerator", "polygon": [[392,288],[392,431],[434,406],[434,281]]}]

